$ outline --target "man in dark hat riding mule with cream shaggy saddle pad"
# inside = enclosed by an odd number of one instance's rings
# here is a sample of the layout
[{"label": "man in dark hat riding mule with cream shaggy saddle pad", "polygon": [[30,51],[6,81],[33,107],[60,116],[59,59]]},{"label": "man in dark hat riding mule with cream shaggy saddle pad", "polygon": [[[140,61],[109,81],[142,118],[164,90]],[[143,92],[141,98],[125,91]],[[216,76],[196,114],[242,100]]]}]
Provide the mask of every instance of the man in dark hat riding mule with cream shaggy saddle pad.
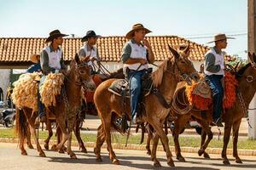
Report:
[{"label": "man in dark hat riding mule with cream shaggy saddle pad", "polygon": [[[43,85],[46,75],[50,72],[62,72],[63,74],[67,74],[67,66],[64,64],[63,52],[59,47],[63,42],[62,37],[67,36],[68,35],[62,34],[59,30],[49,32],[49,37],[45,41],[45,43],[49,42],[49,45],[45,47],[40,54],[40,64],[44,76],[41,77],[39,87]],[[46,122],[44,105],[40,100],[40,95],[38,95],[38,97],[38,117],[36,122]]]}]

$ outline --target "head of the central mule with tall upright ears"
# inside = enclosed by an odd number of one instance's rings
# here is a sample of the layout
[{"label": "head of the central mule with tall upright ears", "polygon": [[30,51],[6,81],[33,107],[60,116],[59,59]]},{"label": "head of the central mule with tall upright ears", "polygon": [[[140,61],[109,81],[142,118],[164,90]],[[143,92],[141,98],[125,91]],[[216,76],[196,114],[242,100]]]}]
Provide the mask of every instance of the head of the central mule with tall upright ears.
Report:
[{"label": "head of the central mule with tall upright ears", "polygon": [[177,74],[180,81],[191,84],[191,80],[197,82],[200,79],[198,72],[195,70],[193,63],[188,56],[179,54],[177,50],[169,46],[171,53],[174,56],[174,73]]}]

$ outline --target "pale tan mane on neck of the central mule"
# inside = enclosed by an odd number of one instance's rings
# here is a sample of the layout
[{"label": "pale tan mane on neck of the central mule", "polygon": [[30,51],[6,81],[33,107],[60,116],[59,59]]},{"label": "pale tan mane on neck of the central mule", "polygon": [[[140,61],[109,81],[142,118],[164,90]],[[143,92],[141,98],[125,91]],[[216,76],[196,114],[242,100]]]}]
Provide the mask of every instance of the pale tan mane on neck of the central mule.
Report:
[{"label": "pale tan mane on neck of the central mule", "polygon": [[159,66],[159,68],[152,73],[152,80],[153,80],[153,85],[155,88],[160,86],[163,80],[164,72],[167,69],[168,65],[168,59],[165,59],[164,62]]}]

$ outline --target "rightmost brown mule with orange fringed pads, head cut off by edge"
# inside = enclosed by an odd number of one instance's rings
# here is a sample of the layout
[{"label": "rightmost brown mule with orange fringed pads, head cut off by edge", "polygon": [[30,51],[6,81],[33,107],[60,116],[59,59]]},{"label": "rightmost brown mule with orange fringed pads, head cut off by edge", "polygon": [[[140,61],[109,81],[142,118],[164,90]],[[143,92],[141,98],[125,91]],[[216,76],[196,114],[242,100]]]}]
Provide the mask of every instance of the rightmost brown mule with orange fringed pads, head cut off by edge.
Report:
[{"label": "rightmost brown mule with orange fringed pads, head cut off by edge", "polygon": [[[236,94],[236,102],[234,106],[230,109],[225,110],[223,114],[224,122],[224,146],[222,150],[222,158],[224,159],[224,164],[230,164],[229,159],[226,156],[227,145],[230,140],[230,132],[233,130],[233,156],[236,159],[236,163],[241,163],[241,159],[237,153],[237,141],[238,141],[238,132],[241,124],[241,118],[245,116],[245,113],[248,109],[248,105],[256,91],[256,56],[255,54],[249,54],[250,63],[243,66],[236,73],[238,85],[238,94]],[[236,72],[236,71],[235,71]],[[212,122],[212,110],[208,111],[189,111],[186,115],[176,115],[177,120],[175,120],[175,127],[173,132],[175,150],[177,154],[177,159],[179,161],[184,161],[183,156],[181,156],[181,150],[178,143],[178,134],[189,121],[190,116],[194,116],[197,122],[201,123],[203,128],[203,133],[201,135],[201,149],[198,151],[198,154],[201,156],[204,154],[206,158],[209,158],[207,152],[207,144],[212,139],[212,132],[209,127],[210,122]],[[205,142],[206,135],[208,135],[207,141]],[[153,149],[156,149],[156,146],[153,146]]]}]

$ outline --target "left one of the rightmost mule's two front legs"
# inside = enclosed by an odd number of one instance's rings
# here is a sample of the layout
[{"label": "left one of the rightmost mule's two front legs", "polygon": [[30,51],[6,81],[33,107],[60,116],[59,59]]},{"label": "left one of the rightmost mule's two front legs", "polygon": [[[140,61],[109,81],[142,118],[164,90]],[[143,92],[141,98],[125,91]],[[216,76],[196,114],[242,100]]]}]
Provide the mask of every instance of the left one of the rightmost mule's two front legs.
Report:
[{"label": "left one of the rightmost mule's two front legs", "polygon": [[231,123],[226,123],[224,125],[224,144],[223,144],[223,149],[222,149],[222,153],[221,156],[224,159],[223,163],[225,165],[230,165],[230,161],[227,158],[227,146],[229,144],[230,141],[230,131],[231,131]]}]

